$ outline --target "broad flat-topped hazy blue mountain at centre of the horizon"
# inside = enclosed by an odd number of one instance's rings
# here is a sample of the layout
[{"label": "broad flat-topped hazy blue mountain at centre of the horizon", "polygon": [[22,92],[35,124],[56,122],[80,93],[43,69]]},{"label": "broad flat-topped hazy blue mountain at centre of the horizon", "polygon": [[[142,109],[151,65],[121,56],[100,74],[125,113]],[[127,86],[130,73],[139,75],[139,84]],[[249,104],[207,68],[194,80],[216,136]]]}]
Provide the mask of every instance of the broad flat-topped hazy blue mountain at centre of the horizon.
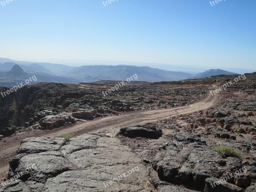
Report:
[{"label": "broad flat-topped hazy blue mountain at centre of the horizon", "polygon": [[75,76],[81,82],[95,82],[101,80],[126,80],[135,73],[138,76],[137,81],[148,82],[182,80],[191,76],[189,73],[129,65],[88,65],[77,67],[63,75],[68,77]]}]

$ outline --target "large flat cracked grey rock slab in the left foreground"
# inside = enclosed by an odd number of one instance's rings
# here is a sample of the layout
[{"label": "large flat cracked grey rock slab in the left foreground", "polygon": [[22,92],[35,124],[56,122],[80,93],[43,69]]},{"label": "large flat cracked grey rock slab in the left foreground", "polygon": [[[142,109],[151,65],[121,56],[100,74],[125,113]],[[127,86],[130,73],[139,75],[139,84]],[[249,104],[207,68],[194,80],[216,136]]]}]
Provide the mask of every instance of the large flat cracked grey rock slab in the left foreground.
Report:
[{"label": "large flat cracked grey rock slab in the left foreground", "polygon": [[[150,191],[149,172],[141,158],[118,138],[119,129],[63,139],[32,138],[21,144],[10,175],[32,170],[4,191]],[[41,146],[41,148],[40,148]],[[41,152],[44,151],[44,152]],[[30,153],[30,154],[27,154]]]}]

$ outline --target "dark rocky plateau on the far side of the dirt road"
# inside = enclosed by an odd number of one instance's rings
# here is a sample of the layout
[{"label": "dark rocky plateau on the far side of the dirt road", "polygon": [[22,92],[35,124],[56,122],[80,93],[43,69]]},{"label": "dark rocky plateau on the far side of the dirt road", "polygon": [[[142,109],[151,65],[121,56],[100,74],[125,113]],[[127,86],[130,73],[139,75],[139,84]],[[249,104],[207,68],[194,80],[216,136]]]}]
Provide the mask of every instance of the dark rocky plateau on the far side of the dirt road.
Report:
[{"label": "dark rocky plateau on the far side of the dirt road", "polygon": [[[173,108],[194,103],[204,97],[205,88],[173,89],[147,82],[131,82],[106,96],[117,82],[99,84],[38,83],[24,86],[15,93],[0,97],[0,134],[49,129],[124,111]],[[9,88],[0,87],[0,92]]]}]

